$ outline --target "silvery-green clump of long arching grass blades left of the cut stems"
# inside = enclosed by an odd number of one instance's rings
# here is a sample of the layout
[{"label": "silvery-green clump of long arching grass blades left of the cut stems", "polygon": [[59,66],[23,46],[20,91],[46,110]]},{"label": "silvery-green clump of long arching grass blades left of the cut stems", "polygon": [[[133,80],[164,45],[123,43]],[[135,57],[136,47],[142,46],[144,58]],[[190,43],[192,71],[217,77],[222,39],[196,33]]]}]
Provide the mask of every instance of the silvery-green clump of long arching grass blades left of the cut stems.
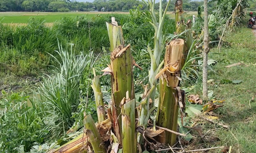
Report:
[{"label": "silvery-green clump of long arching grass blades left of the cut stems", "polygon": [[74,50],[64,50],[59,46],[56,51],[59,57],[50,54],[57,66],[54,66],[53,75],[43,78],[38,89],[39,98],[34,99],[36,105],[48,111],[46,120],[54,121],[49,130],[56,135],[62,134],[72,127],[73,113],[78,111],[80,104],[80,83],[83,71],[90,65],[90,57],[75,55]]}]

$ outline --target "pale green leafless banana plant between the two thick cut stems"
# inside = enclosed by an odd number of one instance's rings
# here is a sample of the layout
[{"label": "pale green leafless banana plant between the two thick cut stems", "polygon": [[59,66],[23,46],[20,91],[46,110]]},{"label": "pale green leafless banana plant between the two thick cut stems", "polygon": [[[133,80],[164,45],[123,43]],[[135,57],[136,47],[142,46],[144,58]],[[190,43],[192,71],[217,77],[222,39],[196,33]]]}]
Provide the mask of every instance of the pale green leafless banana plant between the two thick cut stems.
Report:
[{"label": "pale green leafless banana plant between the two thick cut stems", "polygon": [[[139,126],[147,127],[147,120],[149,118],[150,110],[150,100],[152,100],[152,107],[155,105],[155,95],[156,95],[156,86],[157,80],[155,79],[156,74],[159,72],[160,67],[162,67],[163,62],[161,62],[161,55],[165,49],[165,39],[162,35],[163,23],[166,17],[166,13],[171,1],[168,1],[167,6],[163,12],[162,1],[159,1],[159,20],[157,20],[155,12],[155,0],[142,0],[150,8],[150,13],[152,16],[153,23],[150,24],[154,27],[155,36],[154,36],[154,49],[151,49],[149,46],[147,48],[148,53],[151,58],[151,68],[148,72],[149,75],[149,85],[146,86],[148,89],[145,89],[143,100],[141,103],[141,109],[139,112]],[[152,110],[151,110],[152,111]],[[142,142],[143,137],[141,134],[138,134],[138,141]]]}]

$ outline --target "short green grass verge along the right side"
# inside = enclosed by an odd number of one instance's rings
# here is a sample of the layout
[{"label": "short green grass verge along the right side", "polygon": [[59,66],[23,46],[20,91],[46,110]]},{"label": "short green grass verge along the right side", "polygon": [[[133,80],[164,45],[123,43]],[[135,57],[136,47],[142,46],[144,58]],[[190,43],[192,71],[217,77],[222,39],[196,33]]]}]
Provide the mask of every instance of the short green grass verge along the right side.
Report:
[{"label": "short green grass verge along the right side", "polygon": [[[214,91],[214,97],[218,100],[226,100],[222,108],[215,113],[223,122],[230,126],[229,130],[217,130],[213,135],[219,138],[218,146],[232,146],[232,153],[255,153],[256,150],[256,102],[249,101],[256,93],[256,41],[251,29],[236,29],[236,32],[228,34],[226,41],[232,47],[223,47],[221,54],[214,48],[209,57],[218,63],[213,67],[217,72],[210,72],[208,79],[242,80],[240,84],[214,84],[209,90]],[[243,62],[245,65],[226,68],[230,64]],[[200,85],[199,85],[200,86]],[[201,87],[198,87],[198,94]],[[208,124],[204,132],[216,129]],[[213,151],[214,152],[214,151]]]}]

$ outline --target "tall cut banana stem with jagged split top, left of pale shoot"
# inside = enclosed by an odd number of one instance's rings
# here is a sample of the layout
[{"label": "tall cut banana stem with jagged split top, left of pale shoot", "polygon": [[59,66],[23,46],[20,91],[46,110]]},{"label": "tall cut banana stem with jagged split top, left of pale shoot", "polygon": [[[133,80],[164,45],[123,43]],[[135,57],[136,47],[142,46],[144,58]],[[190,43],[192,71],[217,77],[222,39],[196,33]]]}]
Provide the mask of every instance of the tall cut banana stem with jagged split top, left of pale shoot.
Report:
[{"label": "tall cut banana stem with jagged split top, left of pale shoot", "polygon": [[[122,145],[122,116],[120,102],[126,97],[135,99],[134,84],[133,84],[133,65],[135,62],[131,56],[130,45],[124,45],[124,38],[121,26],[112,18],[112,23],[106,23],[110,39],[110,65],[104,71],[106,74],[111,74],[112,87],[112,123],[113,132]],[[135,105],[135,101],[134,101]],[[134,124],[135,126],[135,124]]]}]

